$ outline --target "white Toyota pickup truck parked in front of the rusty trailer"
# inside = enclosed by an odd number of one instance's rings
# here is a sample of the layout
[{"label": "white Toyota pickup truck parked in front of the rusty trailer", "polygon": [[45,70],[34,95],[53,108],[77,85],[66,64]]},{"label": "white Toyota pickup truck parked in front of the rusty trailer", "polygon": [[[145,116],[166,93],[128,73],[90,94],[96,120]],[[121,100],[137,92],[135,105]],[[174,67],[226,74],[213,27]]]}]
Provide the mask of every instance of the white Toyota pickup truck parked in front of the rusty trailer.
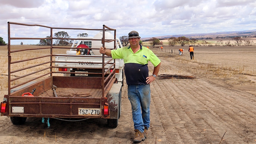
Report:
[{"label": "white Toyota pickup truck parked in front of the rusty trailer", "polygon": [[[105,37],[108,37],[109,39],[113,39],[113,35],[106,31]],[[101,41],[97,40],[88,40],[88,39],[102,39],[102,31],[100,31],[98,34],[96,34],[94,37],[77,37],[76,39],[80,40],[74,40],[71,49],[67,50],[67,55],[77,55],[77,57],[69,57],[69,56],[56,56],[55,61],[61,61],[61,63],[56,62],[55,66],[58,67],[72,67],[72,68],[59,68],[57,71],[59,72],[76,72],[75,74],[70,73],[64,73],[64,76],[73,77],[73,76],[89,76],[89,77],[102,77],[100,73],[100,68],[102,67],[102,57],[95,57],[95,56],[102,56],[102,54],[99,53],[99,50],[90,48],[100,48],[102,46]],[[109,42],[106,43],[105,47],[110,48],[113,43]],[[113,47],[113,46],[112,46]],[[122,48],[120,39],[116,38],[116,49]],[[88,55],[87,57],[79,57],[79,55]],[[105,58],[105,62],[110,60],[110,58]],[[67,63],[63,63],[63,61],[67,61]],[[75,61],[77,63],[68,63],[71,61]],[[110,63],[113,63],[114,60],[110,61]],[[124,84],[124,60],[123,59],[116,59],[116,78],[118,83]],[[96,64],[95,64],[96,63]],[[110,64],[107,64],[105,68],[109,68]],[[111,71],[111,69],[110,69]],[[78,72],[78,73],[77,73]],[[80,73],[79,73],[80,72]],[[86,74],[91,73],[91,74]]]}]

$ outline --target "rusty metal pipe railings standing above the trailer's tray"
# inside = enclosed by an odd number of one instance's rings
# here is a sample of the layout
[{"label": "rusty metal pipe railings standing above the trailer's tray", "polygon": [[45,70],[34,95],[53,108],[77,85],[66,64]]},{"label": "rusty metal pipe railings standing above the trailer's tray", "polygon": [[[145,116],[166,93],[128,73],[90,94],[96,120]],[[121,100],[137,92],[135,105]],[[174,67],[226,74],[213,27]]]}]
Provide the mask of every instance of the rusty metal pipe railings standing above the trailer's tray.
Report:
[{"label": "rusty metal pipe railings standing above the trailer's tray", "polygon": [[[47,28],[49,29],[49,34],[50,37],[11,37],[12,34],[12,29],[11,26],[12,25],[18,25],[18,26],[24,26],[24,27],[39,27],[39,28]],[[8,22],[8,95],[12,95],[11,94],[11,90],[14,88],[17,88],[19,86],[24,86],[25,84],[28,84],[30,82],[33,81],[39,81],[40,78],[42,77],[47,77],[47,76],[53,76],[53,74],[58,74],[58,73],[75,73],[75,72],[56,72],[53,70],[53,68],[64,68],[64,67],[57,67],[54,66],[54,63],[56,63],[56,61],[53,60],[54,56],[60,56],[58,54],[53,54],[53,50],[56,49],[70,49],[70,47],[61,47],[61,46],[54,46],[53,45],[53,40],[55,39],[60,39],[60,40],[78,40],[76,38],[56,38],[53,37],[53,30],[56,29],[69,29],[69,30],[88,30],[88,31],[103,31],[103,37],[102,39],[88,39],[88,40],[98,40],[98,41],[102,41],[102,46],[105,46],[105,42],[114,42],[114,48],[116,48],[116,29],[111,29],[108,26],[103,25],[102,29],[84,29],[84,28],[58,28],[58,27],[50,27],[50,26],[43,26],[43,25],[38,25],[38,24],[24,24],[24,23],[15,23],[15,22]],[[114,39],[105,39],[105,31],[114,31]],[[17,39],[38,39],[38,40],[50,40],[50,45],[49,46],[36,46],[36,48],[24,48],[24,49],[15,49],[12,50],[12,45],[11,45],[11,40],[17,40]],[[99,50],[99,48],[89,48],[91,49],[95,49],[95,50]],[[12,61],[12,54],[14,55],[15,53],[26,53],[28,51],[33,51],[33,50],[50,50],[49,54],[43,55],[43,56],[36,56],[36,57],[32,57],[32,58],[24,58],[24,59],[18,59],[18,60],[14,60]],[[63,56],[63,55],[61,55]],[[73,56],[76,57],[78,55],[68,55],[68,56]],[[86,57],[86,55],[79,55],[79,57]],[[115,60],[113,63],[110,63],[111,60],[113,60],[112,58],[105,62],[105,57],[107,56],[91,56],[91,57],[102,57],[102,72],[100,74],[102,74],[102,80],[101,80],[101,89],[102,89],[102,97],[106,96],[106,90],[109,89],[112,85],[113,85],[113,81],[115,81]],[[41,62],[40,59],[42,58],[48,58],[46,61]],[[16,58],[17,59],[17,58]],[[37,64],[33,64],[33,65],[29,65],[28,67],[22,67],[19,69],[12,69],[12,68],[17,68],[16,65],[20,64],[22,62],[26,62],[26,61],[31,61],[31,60],[36,60],[39,63]],[[60,61],[58,61],[60,63]],[[67,63],[67,62],[65,62]],[[72,62],[72,63],[77,63],[77,62]],[[80,62],[83,63],[83,62]],[[16,64],[16,65],[15,65]],[[40,66],[42,65],[46,65],[49,64],[49,66],[46,66],[44,68],[41,68]],[[99,63],[93,63],[92,64],[99,64]],[[110,64],[111,67],[108,69],[105,69],[105,65]],[[14,66],[12,66],[14,65]],[[38,68],[40,67],[40,68]],[[65,67],[67,68],[67,67]],[[16,72],[21,72],[24,70],[28,70],[28,69],[35,69],[29,73],[26,73],[24,75],[19,75],[19,76],[15,76],[15,78],[12,78],[12,75],[14,75],[14,73]],[[37,70],[38,69],[38,70]],[[113,69],[112,72],[110,72],[110,74],[108,76],[106,76],[107,72],[110,71],[110,69]],[[40,74],[37,76],[32,76],[34,74]],[[90,73],[88,73],[90,74]],[[99,73],[97,73],[99,74]],[[21,80],[21,79],[25,79]],[[19,81],[20,80],[20,81]]]}]

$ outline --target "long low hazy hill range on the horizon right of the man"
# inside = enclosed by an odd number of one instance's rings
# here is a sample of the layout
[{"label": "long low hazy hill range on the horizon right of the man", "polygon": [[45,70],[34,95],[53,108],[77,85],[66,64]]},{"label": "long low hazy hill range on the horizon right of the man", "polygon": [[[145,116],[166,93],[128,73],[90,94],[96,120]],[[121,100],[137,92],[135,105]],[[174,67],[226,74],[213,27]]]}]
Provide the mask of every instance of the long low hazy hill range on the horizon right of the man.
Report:
[{"label": "long low hazy hill range on the horizon right of the man", "polygon": [[[230,38],[230,37],[256,37],[256,30],[247,30],[247,31],[224,31],[224,32],[215,32],[207,34],[177,34],[177,35],[167,35],[167,36],[157,36],[158,39],[168,39],[170,37],[187,37],[195,39],[206,39],[206,38]],[[152,37],[140,38],[140,40],[148,40]]]}]

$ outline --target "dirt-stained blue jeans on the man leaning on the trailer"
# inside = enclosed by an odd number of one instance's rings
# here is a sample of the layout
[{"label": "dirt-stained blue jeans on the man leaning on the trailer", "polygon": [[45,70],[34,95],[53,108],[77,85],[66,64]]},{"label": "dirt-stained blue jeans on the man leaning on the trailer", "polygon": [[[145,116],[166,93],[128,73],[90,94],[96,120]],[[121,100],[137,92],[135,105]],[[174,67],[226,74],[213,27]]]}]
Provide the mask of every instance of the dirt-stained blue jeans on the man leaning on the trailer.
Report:
[{"label": "dirt-stained blue jeans on the man leaning on the trailer", "polygon": [[150,123],[150,85],[128,85],[128,99],[132,105],[134,129],[144,132]]}]

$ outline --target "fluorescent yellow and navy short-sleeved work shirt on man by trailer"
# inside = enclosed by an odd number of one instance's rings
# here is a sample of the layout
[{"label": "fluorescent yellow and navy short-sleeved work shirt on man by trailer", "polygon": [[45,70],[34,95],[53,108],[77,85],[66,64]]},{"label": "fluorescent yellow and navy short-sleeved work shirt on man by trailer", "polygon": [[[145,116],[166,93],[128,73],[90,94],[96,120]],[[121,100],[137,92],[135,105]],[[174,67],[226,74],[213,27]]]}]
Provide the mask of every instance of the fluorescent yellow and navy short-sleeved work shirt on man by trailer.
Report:
[{"label": "fluorescent yellow and navy short-sleeved work shirt on man by trailer", "polygon": [[161,62],[152,50],[143,47],[142,45],[140,45],[140,50],[136,53],[133,53],[129,46],[111,50],[111,55],[113,59],[124,59],[124,73],[128,85],[146,85],[146,77],[148,77],[148,61],[150,61],[154,67]]}]

